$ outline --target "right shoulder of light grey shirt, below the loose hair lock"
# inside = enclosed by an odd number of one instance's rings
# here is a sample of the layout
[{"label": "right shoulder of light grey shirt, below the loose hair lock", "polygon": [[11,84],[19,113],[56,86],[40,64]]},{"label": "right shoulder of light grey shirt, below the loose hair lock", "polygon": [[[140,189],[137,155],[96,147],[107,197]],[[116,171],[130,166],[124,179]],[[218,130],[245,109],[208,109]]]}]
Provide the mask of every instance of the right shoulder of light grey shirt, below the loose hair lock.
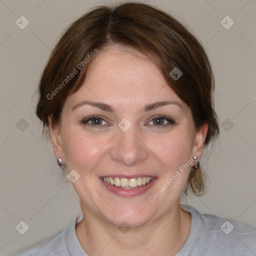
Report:
[{"label": "right shoulder of light grey shirt, below the loose hair lock", "polygon": [[200,214],[190,205],[183,204],[182,208],[191,213],[191,249],[202,255],[256,253],[256,226],[213,214]]}]

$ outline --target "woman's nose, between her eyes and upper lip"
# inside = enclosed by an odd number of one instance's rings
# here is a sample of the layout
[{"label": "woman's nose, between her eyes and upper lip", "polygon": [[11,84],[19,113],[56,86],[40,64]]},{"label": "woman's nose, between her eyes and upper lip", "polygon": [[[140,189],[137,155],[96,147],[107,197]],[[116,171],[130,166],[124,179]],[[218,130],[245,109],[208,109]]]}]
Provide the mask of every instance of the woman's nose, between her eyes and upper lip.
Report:
[{"label": "woman's nose, between her eyes and upper lip", "polygon": [[132,166],[136,162],[144,161],[148,157],[148,148],[142,135],[137,135],[131,126],[128,130],[119,129],[114,137],[110,151],[113,160],[125,166]]}]

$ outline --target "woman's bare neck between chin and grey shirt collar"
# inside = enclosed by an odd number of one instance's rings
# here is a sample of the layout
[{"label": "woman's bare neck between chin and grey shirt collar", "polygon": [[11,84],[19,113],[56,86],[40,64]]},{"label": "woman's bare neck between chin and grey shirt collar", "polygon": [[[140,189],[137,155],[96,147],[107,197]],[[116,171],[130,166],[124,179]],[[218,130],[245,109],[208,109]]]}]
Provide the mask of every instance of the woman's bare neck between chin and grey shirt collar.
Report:
[{"label": "woman's bare neck between chin and grey shirt collar", "polygon": [[175,255],[185,243],[191,215],[179,203],[168,214],[122,233],[103,219],[95,219],[81,205],[84,219],[76,225],[77,238],[88,255]]}]

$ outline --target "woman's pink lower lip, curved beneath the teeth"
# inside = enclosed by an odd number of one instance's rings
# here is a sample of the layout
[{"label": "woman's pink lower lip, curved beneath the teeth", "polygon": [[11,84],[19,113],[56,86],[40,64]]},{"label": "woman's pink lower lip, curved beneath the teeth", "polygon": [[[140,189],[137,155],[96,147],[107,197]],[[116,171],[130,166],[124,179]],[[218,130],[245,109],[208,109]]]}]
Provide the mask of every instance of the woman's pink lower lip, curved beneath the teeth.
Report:
[{"label": "woman's pink lower lip, curved beneath the teeth", "polygon": [[152,179],[152,181],[150,183],[148,183],[147,185],[141,185],[139,187],[136,188],[131,188],[131,189],[123,189],[123,188],[118,188],[115,185],[110,185],[106,182],[104,182],[102,180],[102,178],[99,178],[101,180],[101,182],[103,183],[103,185],[106,187],[107,190],[109,190],[110,192],[119,195],[119,196],[123,196],[123,197],[127,197],[127,196],[136,196],[136,195],[140,195],[142,193],[144,193],[146,190],[148,190],[153,183],[156,181],[156,177],[154,177]]}]

